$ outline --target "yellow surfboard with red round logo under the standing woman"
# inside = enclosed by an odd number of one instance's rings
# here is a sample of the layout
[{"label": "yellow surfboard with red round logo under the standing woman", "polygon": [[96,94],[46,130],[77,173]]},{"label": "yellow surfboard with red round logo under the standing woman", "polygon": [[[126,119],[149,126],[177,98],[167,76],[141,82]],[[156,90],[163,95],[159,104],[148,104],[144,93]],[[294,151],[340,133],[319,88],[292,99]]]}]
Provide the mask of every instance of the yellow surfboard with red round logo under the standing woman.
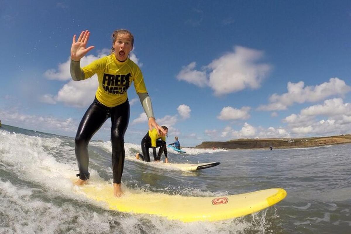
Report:
[{"label": "yellow surfboard with red round logo under the standing woman", "polygon": [[158,215],[183,222],[219,221],[252,214],[276,204],[286,196],[282,188],[211,198],[145,193],[134,189],[123,191],[124,195],[116,198],[112,185],[105,182],[79,187],[80,193],[101,202],[110,210]]}]

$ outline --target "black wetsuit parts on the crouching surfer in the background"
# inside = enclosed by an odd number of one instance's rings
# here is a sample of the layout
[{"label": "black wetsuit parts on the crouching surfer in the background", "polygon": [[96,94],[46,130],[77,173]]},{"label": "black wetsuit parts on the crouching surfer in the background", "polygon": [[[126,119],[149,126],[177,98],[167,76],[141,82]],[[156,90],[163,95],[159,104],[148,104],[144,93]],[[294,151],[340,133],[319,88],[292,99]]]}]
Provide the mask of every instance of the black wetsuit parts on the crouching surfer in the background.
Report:
[{"label": "black wetsuit parts on the crouching surfer in the background", "polygon": [[[160,149],[158,151],[158,155],[156,156],[156,148],[157,147],[160,147]],[[146,135],[144,136],[143,140],[141,140],[141,151],[143,152],[143,154],[139,154],[139,157],[141,158],[141,160],[146,161],[146,162],[150,162],[149,148],[152,148],[152,152],[153,152],[153,156],[154,156],[155,161],[161,160],[162,153],[165,153],[165,158],[167,158],[166,141],[157,140],[156,147],[152,147],[151,146],[151,138],[150,138],[149,133],[147,132]]]}]

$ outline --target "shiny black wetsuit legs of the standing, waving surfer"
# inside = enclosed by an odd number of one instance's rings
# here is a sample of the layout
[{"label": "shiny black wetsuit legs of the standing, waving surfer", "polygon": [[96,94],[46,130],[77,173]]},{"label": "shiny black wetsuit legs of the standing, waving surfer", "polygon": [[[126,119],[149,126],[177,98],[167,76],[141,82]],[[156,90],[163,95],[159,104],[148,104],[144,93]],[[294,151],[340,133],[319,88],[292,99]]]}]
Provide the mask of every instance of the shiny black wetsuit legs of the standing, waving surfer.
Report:
[{"label": "shiny black wetsuit legs of the standing, waving surfer", "polygon": [[95,97],[95,100],[80,121],[77,135],[75,136],[75,155],[81,180],[89,179],[90,175],[88,172],[88,143],[104,122],[111,118],[113,183],[121,183],[125,158],[124,134],[128,127],[129,115],[130,105],[128,99],[118,106],[107,107]]}]

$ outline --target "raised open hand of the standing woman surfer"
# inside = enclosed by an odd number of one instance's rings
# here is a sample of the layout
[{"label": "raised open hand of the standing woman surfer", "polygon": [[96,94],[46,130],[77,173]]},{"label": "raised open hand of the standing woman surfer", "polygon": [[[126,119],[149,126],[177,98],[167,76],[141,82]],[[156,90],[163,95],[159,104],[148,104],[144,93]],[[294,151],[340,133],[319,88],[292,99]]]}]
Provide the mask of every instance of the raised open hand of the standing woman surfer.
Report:
[{"label": "raised open hand of the standing woman surfer", "polygon": [[74,61],[79,61],[84,57],[89,51],[91,51],[95,46],[89,46],[86,48],[90,36],[88,30],[81,32],[77,42],[75,41],[75,34],[73,36],[72,46],[71,46],[71,59]]}]

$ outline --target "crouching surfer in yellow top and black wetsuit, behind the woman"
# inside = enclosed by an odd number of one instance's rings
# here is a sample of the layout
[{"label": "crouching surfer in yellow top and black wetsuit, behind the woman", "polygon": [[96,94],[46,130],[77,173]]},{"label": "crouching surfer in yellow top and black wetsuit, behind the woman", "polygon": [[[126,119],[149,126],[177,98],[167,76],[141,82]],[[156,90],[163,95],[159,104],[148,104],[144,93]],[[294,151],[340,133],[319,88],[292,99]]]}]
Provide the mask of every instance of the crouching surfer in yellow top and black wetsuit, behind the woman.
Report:
[{"label": "crouching surfer in yellow top and black wetsuit, behind the woman", "polygon": [[[143,154],[135,154],[135,158],[141,159],[145,162],[150,162],[149,148],[152,148],[152,153],[155,161],[161,160],[162,153],[165,153],[165,162],[168,163],[167,158],[167,147],[166,147],[166,134],[168,133],[168,128],[166,126],[161,126],[165,130],[165,133],[157,133],[156,129],[149,130],[141,140],[141,151]],[[156,156],[156,148],[160,147],[158,154]]]}]

